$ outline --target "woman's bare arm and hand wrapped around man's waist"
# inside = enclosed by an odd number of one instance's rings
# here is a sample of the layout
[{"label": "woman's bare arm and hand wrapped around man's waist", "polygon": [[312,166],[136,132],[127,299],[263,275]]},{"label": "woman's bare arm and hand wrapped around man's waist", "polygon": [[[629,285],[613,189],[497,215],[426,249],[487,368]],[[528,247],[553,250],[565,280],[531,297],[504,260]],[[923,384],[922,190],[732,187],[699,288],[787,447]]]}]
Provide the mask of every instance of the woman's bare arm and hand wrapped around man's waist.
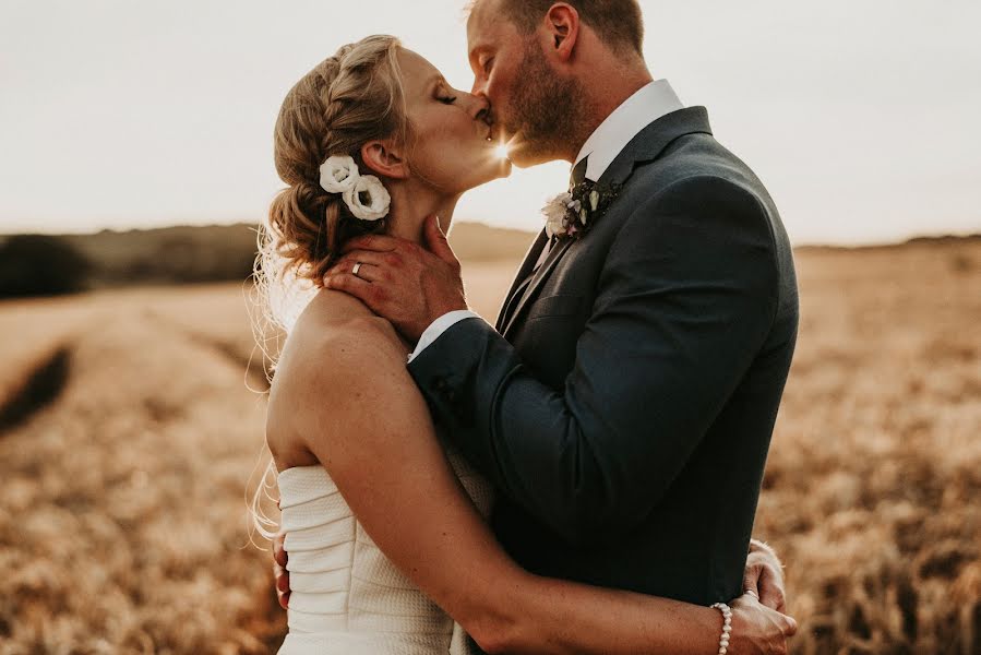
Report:
[{"label": "woman's bare arm and hand wrapped around man's waist", "polygon": [[[715,609],[546,579],[512,561],[453,474],[394,332],[359,322],[292,369],[282,416],[291,433],[308,436],[382,551],[483,650],[717,652]],[[791,626],[744,598],[729,651],[782,652]]]}]

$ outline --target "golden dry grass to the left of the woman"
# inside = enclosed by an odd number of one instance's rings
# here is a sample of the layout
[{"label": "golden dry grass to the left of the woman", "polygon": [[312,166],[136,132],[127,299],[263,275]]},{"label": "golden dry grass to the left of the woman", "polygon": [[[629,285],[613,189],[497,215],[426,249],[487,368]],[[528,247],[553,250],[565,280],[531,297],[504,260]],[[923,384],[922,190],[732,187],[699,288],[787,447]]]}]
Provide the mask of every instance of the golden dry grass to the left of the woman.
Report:
[{"label": "golden dry grass to the left of the woman", "polygon": [[161,318],[187,302],[203,334],[223,336],[206,308],[248,331],[237,287],[77,302],[98,329],[60,397],[0,434],[0,653],[267,652],[284,617],[243,501],[263,402]]}]

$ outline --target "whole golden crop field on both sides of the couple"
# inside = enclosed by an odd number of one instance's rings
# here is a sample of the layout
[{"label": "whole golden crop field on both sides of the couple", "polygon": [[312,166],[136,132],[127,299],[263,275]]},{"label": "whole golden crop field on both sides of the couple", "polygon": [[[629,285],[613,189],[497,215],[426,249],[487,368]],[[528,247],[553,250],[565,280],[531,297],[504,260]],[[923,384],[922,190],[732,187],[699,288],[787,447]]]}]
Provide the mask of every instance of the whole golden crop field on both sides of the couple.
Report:
[{"label": "whole golden crop field on both sides of the couple", "polygon": [[[484,317],[521,254],[465,265]],[[787,563],[794,651],[979,653],[981,241],[806,249],[798,270],[755,531]],[[0,655],[276,647],[246,504],[264,464],[247,290],[0,302]]]}]

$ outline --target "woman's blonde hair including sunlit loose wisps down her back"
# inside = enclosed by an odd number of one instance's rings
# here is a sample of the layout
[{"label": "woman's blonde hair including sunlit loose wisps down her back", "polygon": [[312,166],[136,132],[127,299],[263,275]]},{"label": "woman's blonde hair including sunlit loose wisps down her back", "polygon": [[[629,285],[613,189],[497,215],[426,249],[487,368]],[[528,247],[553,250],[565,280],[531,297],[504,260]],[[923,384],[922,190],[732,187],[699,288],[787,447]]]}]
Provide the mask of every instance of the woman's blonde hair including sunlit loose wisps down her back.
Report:
[{"label": "woman's blonde hair including sunlit loose wisps down her back", "polygon": [[[276,172],[287,187],[273,200],[259,227],[252,290],[252,330],[265,357],[270,382],[282,338],[296,323],[348,239],[385,231],[388,221],[359,221],[340,194],[320,186],[320,166],[349,155],[363,171],[361,146],[375,139],[409,138],[405,91],[398,67],[402,43],[375,35],[342,46],[286,94],[273,133]],[[275,473],[266,467],[252,498],[253,523],[275,522],[261,510]],[[273,476],[273,485],[275,477]]]}]

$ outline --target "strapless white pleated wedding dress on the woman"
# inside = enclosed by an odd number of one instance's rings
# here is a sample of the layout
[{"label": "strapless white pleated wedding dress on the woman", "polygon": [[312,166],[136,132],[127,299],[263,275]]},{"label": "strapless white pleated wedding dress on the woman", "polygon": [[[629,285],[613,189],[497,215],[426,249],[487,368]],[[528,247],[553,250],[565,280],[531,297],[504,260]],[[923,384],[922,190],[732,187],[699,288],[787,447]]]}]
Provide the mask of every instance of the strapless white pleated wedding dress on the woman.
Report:
[{"label": "strapless white pleated wedding dress on the woman", "polygon": [[[448,456],[486,516],[490,485]],[[464,631],[374,545],[322,466],[287,468],[278,483],[292,590],[279,655],[470,655]]]}]

